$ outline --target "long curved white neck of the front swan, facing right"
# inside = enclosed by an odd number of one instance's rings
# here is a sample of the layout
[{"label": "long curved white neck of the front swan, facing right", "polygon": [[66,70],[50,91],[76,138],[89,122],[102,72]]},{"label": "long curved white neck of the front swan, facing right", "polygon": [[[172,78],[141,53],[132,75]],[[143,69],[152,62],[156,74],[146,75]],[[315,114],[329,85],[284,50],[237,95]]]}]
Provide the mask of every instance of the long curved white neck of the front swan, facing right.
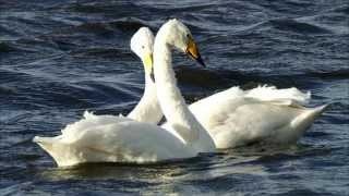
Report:
[{"label": "long curved white neck of the front swan, facing right", "polygon": [[214,148],[213,139],[190,112],[177,87],[172,69],[171,47],[167,44],[167,36],[163,32],[160,28],[154,46],[154,75],[163,113],[186,144],[192,145],[200,152],[212,151]]}]

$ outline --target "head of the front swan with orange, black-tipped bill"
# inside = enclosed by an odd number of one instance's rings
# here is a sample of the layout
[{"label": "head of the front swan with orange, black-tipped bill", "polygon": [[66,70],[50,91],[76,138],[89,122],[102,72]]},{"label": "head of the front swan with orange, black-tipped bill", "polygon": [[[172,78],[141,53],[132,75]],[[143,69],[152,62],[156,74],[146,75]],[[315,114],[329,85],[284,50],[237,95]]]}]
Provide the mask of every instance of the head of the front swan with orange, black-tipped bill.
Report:
[{"label": "head of the front swan with orange, black-tipped bill", "polygon": [[180,51],[197,61],[201,65],[205,66],[191,32],[182,22],[172,19],[165,23],[163,27],[163,33],[165,34],[164,36],[166,37],[168,45],[178,48]]}]

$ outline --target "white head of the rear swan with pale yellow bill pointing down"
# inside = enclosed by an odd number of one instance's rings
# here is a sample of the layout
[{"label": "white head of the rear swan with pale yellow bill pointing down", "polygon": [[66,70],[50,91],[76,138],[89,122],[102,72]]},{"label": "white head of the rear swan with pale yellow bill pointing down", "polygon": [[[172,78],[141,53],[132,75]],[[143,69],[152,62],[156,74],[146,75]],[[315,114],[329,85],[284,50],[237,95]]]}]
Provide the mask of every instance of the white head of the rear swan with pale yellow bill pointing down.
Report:
[{"label": "white head of the rear swan with pale yellow bill pointing down", "polygon": [[145,74],[149,75],[153,82],[153,45],[154,35],[148,27],[141,27],[131,38],[131,50],[142,60]]}]

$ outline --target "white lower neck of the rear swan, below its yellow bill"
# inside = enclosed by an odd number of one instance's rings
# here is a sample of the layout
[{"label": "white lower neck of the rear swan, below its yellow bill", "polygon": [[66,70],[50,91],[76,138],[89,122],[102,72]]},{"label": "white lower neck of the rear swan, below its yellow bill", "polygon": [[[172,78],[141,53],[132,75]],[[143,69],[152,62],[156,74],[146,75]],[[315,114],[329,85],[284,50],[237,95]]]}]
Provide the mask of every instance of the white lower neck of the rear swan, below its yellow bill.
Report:
[{"label": "white lower neck of the rear swan, below its yellow bill", "polygon": [[156,86],[148,74],[144,75],[145,86],[143,96],[128,118],[139,122],[159,123],[163,112],[156,97]]}]

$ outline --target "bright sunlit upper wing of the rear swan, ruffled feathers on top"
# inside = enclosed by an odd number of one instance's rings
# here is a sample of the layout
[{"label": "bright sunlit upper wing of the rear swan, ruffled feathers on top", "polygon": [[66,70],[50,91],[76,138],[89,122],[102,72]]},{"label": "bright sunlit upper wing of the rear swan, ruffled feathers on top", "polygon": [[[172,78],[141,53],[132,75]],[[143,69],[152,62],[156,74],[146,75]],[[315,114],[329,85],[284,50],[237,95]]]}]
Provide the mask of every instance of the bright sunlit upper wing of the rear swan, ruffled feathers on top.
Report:
[{"label": "bright sunlit upper wing of the rear swan, ruffled feathers on top", "polygon": [[[306,103],[309,99],[310,93],[303,94],[297,88],[277,89],[274,86],[260,86],[244,91],[234,86],[203,98],[190,105],[189,109],[205,128],[212,128],[216,123],[220,123],[225,117],[228,117],[230,112],[233,113],[240,105],[245,105],[249,101],[268,101],[269,105],[303,108],[301,105]],[[217,117],[219,117],[219,122],[216,121]]]}]

